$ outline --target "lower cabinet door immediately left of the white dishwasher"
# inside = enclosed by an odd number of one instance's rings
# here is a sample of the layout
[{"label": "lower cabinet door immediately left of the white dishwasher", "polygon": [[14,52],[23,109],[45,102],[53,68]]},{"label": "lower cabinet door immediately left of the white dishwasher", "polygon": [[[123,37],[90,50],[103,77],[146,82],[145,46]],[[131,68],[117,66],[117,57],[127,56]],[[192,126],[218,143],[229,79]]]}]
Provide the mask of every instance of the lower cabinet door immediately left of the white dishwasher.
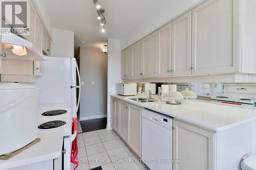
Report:
[{"label": "lower cabinet door immediately left of the white dishwasher", "polygon": [[141,109],[129,106],[129,135],[127,144],[141,157]]}]

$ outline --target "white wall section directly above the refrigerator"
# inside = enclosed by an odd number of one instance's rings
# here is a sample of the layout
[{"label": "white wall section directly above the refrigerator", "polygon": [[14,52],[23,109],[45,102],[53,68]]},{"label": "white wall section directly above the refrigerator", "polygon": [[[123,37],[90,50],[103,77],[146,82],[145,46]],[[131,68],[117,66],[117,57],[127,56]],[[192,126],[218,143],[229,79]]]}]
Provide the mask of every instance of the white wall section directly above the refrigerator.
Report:
[{"label": "white wall section directly above the refrigerator", "polygon": [[53,57],[74,57],[74,32],[53,29],[50,52]]}]

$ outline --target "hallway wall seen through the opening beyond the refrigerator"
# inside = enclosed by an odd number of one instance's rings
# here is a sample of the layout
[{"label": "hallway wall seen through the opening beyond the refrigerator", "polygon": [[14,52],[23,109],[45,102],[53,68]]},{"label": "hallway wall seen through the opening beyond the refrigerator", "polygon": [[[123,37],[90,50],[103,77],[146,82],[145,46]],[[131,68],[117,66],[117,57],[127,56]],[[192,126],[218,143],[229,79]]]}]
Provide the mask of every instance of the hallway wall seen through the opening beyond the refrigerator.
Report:
[{"label": "hallway wall seen through the opening beyond the refrigerator", "polygon": [[80,47],[80,120],[106,117],[107,58],[99,48]]}]

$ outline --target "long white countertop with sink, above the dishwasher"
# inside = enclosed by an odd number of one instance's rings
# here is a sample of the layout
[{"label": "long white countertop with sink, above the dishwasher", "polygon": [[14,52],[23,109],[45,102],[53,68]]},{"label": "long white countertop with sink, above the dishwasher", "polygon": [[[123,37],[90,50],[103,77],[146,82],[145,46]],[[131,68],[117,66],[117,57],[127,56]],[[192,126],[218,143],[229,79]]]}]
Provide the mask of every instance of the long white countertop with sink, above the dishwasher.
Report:
[{"label": "long white countertop with sink, above the dishwasher", "polygon": [[[138,96],[141,97],[141,94],[137,96],[111,94],[111,96],[127,103],[154,110],[212,131],[222,131],[256,119],[256,110],[249,108],[191,100],[180,100],[181,105],[168,105],[161,101],[140,103],[130,100]],[[156,95],[153,97],[157,98]]]}]

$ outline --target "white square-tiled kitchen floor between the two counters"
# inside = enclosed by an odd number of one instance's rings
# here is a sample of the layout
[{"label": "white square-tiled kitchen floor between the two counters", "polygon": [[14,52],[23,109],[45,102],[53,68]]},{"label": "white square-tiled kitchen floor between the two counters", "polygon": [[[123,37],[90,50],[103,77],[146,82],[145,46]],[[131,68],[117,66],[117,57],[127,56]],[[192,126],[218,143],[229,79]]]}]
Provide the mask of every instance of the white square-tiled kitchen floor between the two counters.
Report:
[{"label": "white square-tiled kitchen floor between the two counters", "polygon": [[78,134],[79,166],[87,170],[101,166],[103,170],[150,170],[112,130]]}]

